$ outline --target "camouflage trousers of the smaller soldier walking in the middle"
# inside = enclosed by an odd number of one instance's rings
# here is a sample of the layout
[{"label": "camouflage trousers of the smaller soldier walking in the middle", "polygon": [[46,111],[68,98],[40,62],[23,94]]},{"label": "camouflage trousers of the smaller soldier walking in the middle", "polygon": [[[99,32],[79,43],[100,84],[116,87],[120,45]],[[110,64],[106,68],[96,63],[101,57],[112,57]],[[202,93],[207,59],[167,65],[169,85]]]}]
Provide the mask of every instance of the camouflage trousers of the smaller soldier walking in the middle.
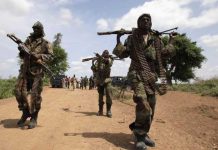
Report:
[{"label": "camouflage trousers of the smaller soldier walking in the middle", "polygon": [[105,83],[104,85],[98,85],[98,104],[99,106],[104,105],[103,97],[104,93],[106,94],[106,104],[107,105],[112,105],[112,85],[111,82]]}]

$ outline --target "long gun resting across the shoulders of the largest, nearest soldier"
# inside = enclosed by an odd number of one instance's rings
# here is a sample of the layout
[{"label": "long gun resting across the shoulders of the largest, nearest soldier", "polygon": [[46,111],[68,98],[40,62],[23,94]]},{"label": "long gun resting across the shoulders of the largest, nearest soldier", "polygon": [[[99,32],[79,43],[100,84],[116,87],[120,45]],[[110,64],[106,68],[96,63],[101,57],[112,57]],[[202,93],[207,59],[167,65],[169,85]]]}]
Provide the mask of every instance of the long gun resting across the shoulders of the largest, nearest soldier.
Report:
[{"label": "long gun resting across the shoulders of the largest, nearest soldier", "polygon": [[[162,32],[159,32],[159,31],[156,31],[156,30],[151,30],[151,32],[153,32],[156,35],[171,34],[171,32],[169,32],[169,31],[177,30],[177,29],[178,29],[178,27],[175,27],[175,28],[172,28],[172,29],[168,29],[168,30],[165,30],[165,31],[162,31]],[[116,31],[108,31],[108,32],[97,32],[98,35],[110,35],[110,34],[121,34],[121,35],[124,35],[124,34],[132,34],[132,33],[133,33],[133,31],[125,30],[125,29],[120,29],[120,30],[116,30]],[[177,32],[173,32],[173,34],[177,35],[178,33]]]}]

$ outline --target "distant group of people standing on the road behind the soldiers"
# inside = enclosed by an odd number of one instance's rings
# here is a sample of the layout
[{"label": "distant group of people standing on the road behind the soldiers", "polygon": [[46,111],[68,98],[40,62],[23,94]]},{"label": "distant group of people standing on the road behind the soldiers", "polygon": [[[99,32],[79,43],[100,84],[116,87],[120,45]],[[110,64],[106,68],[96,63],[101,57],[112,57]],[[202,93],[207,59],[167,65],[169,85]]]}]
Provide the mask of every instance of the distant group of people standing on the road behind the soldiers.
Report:
[{"label": "distant group of people standing on the road behind the soldiers", "polygon": [[96,88],[94,77],[90,76],[89,78],[87,76],[76,78],[76,75],[73,75],[73,77],[65,76],[62,79],[62,85],[63,88],[72,88],[73,90],[77,89],[87,89],[87,86],[89,87],[89,90]]}]

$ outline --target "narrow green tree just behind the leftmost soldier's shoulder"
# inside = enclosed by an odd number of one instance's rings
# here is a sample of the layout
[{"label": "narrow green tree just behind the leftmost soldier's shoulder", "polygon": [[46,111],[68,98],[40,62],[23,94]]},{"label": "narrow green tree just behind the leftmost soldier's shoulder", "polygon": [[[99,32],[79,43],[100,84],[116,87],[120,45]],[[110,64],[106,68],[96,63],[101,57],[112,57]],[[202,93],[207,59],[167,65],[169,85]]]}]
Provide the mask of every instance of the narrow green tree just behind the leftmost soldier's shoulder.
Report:
[{"label": "narrow green tree just behind the leftmost soldier's shoulder", "polygon": [[64,74],[70,67],[67,62],[67,53],[60,46],[62,34],[57,33],[53,42],[53,59],[49,62],[49,68],[54,74]]}]

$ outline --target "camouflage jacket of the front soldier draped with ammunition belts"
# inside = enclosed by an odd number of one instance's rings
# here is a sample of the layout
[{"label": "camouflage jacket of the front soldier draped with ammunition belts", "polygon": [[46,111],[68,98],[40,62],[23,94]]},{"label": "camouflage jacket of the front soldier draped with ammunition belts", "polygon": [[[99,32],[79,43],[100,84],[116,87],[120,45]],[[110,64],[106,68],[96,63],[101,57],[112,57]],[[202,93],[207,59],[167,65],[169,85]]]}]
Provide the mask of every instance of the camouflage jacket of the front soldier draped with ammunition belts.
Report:
[{"label": "camouflage jacket of the front soldier draped with ammunition belts", "polygon": [[[137,33],[135,33],[137,34]],[[157,45],[155,41],[160,41]],[[137,46],[136,46],[137,45]],[[157,49],[159,47],[160,49]],[[137,56],[137,48],[142,49],[143,53],[142,56]],[[159,52],[160,51],[160,52]],[[160,63],[158,60],[163,62],[163,60],[167,59],[171,56],[174,51],[174,46],[172,44],[168,44],[166,46],[163,45],[160,37],[154,35],[152,32],[148,33],[146,37],[142,35],[129,35],[126,39],[124,45],[119,43],[113,50],[113,54],[118,56],[119,58],[131,58],[131,64],[129,67],[128,78],[129,80],[141,80],[142,74],[145,74],[145,70],[142,65],[144,65],[139,57],[144,57],[146,63],[148,65],[149,74],[153,76],[153,81],[156,82],[157,78],[160,77],[160,70],[159,66]],[[159,52],[159,53],[158,53]],[[160,55],[160,59],[158,59],[158,54]],[[162,69],[163,70],[163,69]],[[143,72],[144,71],[144,72]],[[149,86],[148,84],[145,85],[145,89],[147,93],[153,94],[155,89]]]}]

